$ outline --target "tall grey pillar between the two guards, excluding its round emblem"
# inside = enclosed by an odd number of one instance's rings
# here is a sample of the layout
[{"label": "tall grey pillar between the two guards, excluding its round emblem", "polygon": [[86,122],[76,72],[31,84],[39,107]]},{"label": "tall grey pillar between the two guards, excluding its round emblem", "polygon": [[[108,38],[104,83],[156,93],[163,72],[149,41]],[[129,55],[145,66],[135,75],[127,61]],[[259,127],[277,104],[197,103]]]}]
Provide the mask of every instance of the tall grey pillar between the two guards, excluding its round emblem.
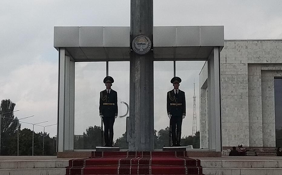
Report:
[{"label": "tall grey pillar between the two guards, excluding its round emblem", "polygon": [[[139,34],[152,42],[153,1],[131,0],[130,43]],[[141,56],[131,52],[130,58],[130,140],[129,151],[154,149],[153,54]]]}]

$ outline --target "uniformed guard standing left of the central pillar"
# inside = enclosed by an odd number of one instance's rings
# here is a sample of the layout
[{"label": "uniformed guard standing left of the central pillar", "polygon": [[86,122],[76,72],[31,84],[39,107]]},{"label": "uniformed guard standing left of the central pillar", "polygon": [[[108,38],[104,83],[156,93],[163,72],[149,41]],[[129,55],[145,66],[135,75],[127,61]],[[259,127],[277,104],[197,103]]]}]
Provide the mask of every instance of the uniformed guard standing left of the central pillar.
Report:
[{"label": "uniformed guard standing left of the central pillar", "polygon": [[113,78],[107,76],[104,78],[106,89],[100,92],[100,117],[104,123],[105,145],[113,146],[113,123],[117,117],[117,93],[111,89]]}]

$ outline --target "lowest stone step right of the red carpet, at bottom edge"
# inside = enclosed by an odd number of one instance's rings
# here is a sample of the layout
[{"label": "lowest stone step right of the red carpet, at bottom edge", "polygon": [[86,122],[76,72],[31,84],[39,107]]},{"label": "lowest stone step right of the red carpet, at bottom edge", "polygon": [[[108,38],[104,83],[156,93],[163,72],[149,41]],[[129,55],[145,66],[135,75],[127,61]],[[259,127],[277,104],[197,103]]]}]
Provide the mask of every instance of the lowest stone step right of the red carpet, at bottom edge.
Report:
[{"label": "lowest stone step right of the red carpet, at bottom edge", "polygon": [[280,175],[281,168],[203,168],[206,175]]}]

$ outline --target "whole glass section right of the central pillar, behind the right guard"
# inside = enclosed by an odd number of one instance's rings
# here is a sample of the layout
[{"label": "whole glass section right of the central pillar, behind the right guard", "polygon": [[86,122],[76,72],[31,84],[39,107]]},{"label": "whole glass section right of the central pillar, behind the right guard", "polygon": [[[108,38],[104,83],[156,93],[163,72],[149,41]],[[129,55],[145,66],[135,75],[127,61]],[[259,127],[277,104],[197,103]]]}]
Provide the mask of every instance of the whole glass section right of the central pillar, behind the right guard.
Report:
[{"label": "whole glass section right of the central pillar, behind the right guard", "polygon": [[[182,121],[182,145],[199,148],[199,132],[192,135],[193,95],[195,78],[197,131],[199,131],[199,72],[205,61],[154,61],[154,128],[156,132],[155,149],[169,146],[169,118],[166,111],[166,95],[173,89],[172,77],[182,79],[179,89],[185,92],[186,117]],[[175,66],[175,67],[174,67]]]}]

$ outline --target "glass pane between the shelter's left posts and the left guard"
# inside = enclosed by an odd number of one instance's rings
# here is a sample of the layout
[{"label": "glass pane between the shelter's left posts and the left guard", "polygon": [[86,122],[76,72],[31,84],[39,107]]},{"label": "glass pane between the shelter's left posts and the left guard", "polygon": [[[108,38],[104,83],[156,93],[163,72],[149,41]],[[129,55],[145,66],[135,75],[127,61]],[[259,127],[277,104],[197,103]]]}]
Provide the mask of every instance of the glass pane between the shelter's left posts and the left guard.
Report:
[{"label": "glass pane between the shelter's left posts and the left guard", "polygon": [[106,62],[76,62],[74,149],[101,146],[100,91],[105,89]]}]

